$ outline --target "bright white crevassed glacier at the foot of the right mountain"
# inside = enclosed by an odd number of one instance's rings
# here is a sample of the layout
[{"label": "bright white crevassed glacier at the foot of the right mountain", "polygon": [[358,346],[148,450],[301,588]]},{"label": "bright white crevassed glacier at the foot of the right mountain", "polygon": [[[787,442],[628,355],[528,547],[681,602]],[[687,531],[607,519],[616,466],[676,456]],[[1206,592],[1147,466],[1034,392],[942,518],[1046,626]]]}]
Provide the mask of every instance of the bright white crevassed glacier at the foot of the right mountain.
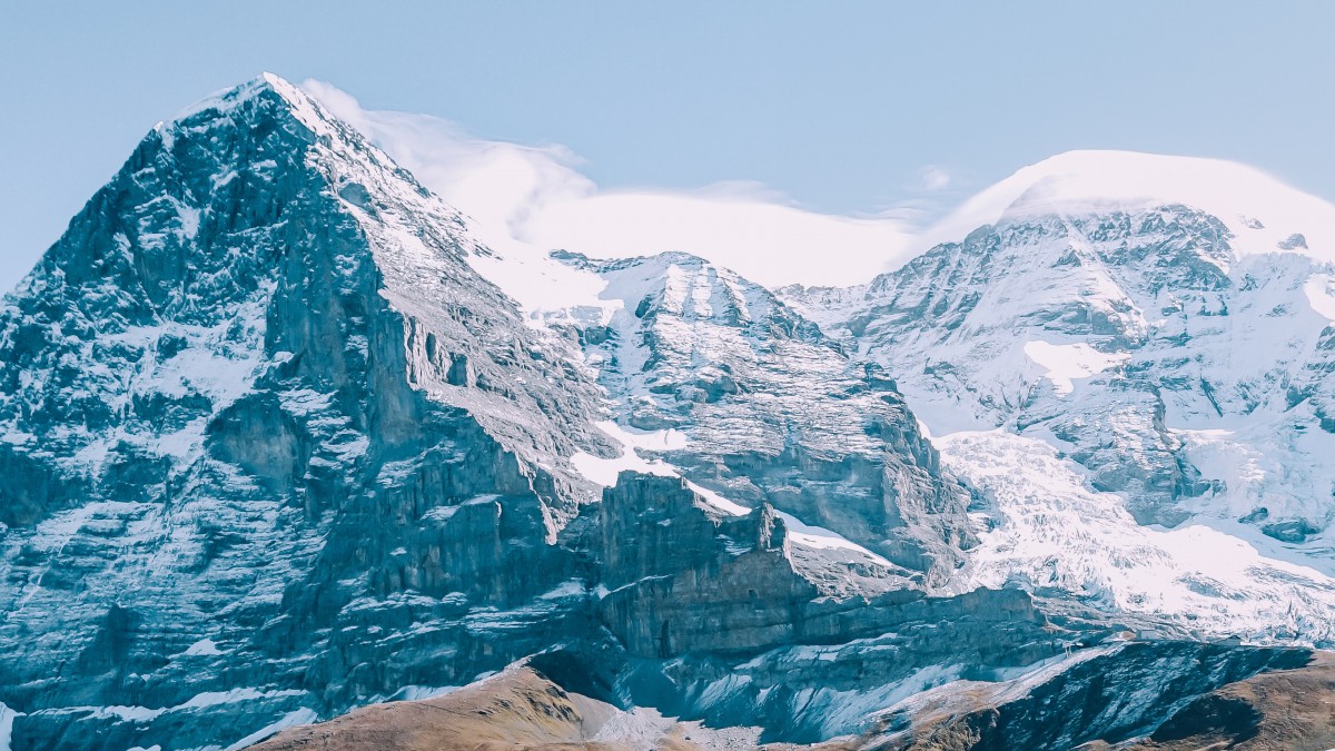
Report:
[{"label": "bright white crevassed glacier at the foot of the right mountain", "polygon": [[1016,580],[1109,611],[1157,616],[1204,637],[1335,639],[1335,579],[1260,555],[1199,524],[1143,527],[1115,493],[1043,441],[1003,430],[936,440],[947,468],[989,502],[983,544],[953,588]]}]

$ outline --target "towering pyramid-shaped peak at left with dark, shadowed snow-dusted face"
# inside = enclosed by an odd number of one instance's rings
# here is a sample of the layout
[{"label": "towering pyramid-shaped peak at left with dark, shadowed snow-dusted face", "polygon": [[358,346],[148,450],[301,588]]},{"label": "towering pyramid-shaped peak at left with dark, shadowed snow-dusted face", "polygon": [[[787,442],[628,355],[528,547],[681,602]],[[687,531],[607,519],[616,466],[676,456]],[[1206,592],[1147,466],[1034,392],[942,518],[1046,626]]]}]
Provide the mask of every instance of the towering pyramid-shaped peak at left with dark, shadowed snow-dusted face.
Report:
[{"label": "towering pyramid-shaped peak at left with dark, shadowed snow-dusted face", "polygon": [[144,139],[0,309],[15,747],[235,739],[571,629],[522,605],[601,394],[475,253],[283,82]]}]

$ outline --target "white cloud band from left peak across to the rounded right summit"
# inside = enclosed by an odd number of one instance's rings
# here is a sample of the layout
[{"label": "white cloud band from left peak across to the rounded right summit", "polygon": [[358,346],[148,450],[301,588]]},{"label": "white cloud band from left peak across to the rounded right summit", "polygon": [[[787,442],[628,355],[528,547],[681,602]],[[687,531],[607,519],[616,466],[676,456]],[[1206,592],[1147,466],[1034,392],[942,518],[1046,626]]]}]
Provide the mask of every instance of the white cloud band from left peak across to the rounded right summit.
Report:
[{"label": "white cloud band from left peak across to the rounded right summit", "polygon": [[482,140],[441,118],[370,111],[327,83],[303,86],[474,218],[487,245],[507,250],[510,266],[542,270],[534,278],[546,281],[531,285],[534,299],[555,294],[550,278],[557,271],[542,262],[553,249],[594,258],[680,250],[770,287],[842,286],[868,282],[939,242],[960,241],[1007,211],[1077,210],[1093,199],[1129,196],[1206,207],[1226,223],[1240,214],[1256,216],[1268,233],[1236,229],[1239,243],[1272,251],[1276,237],[1303,233],[1323,259],[1335,258],[1335,206],[1214,159],[1072,151],[1019,170],[940,219],[941,199],[953,199],[963,186],[928,164],[918,171],[922,195],[916,202],[854,218],[806,211],[754,182],[694,191],[602,190],[579,172],[579,159],[566,147]]}]

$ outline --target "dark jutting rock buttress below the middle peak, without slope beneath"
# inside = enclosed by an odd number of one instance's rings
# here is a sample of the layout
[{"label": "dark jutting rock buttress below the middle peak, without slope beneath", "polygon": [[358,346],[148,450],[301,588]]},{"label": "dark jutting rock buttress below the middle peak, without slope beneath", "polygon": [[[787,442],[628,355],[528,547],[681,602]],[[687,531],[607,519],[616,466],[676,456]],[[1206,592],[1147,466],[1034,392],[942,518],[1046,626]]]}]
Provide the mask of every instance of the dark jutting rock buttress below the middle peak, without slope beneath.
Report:
[{"label": "dark jutting rock buttress below the middle peak, without slope beneath", "polygon": [[[941,608],[961,617],[968,603],[999,623],[1041,625],[1019,592],[932,599],[898,587],[868,597],[832,597],[805,576],[800,545],[764,505],[720,512],[681,480],[623,474],[597,513],[602,551],[599,611],[631,656],[692,652],[754,655],[786,644],[840,644],[880,636]],[[892,577],[889,571],[882,576]],[[868,587],[870,589],[870,587]]]}]

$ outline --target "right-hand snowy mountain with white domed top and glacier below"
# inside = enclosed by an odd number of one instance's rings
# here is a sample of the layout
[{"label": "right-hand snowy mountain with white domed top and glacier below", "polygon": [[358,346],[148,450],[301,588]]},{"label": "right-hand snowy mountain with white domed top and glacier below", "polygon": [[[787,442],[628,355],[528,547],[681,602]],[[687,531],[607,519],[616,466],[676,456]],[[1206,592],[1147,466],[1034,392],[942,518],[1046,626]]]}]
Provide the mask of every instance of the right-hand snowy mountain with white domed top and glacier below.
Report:
[{"label": "right-hand snowy mountain with white domed top and glacier below", "polygon": [[1117,152],[972,203],[1000,200],[865,286],[786,290],[989,498],[961,585],[1019,576],[1218,636],[1328,640],[1335,246],[1306,238],[1335,210],[1240,167]]}]

